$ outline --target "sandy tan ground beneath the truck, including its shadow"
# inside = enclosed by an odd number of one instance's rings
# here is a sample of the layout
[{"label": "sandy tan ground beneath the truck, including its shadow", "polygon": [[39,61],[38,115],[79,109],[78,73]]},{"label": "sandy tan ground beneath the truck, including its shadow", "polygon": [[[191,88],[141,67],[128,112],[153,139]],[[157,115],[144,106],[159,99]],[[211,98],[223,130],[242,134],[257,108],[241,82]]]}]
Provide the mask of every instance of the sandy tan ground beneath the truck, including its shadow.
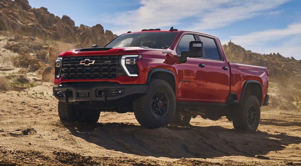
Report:
[{"label": "sandy tan ground beneath the truck, including its shadow", "polygon": [[226,118],[147,129],[133,113],[61,122],[52,85],[0,93],[0,165],[301,165],[301,115],[262,112],[256,132]]}]

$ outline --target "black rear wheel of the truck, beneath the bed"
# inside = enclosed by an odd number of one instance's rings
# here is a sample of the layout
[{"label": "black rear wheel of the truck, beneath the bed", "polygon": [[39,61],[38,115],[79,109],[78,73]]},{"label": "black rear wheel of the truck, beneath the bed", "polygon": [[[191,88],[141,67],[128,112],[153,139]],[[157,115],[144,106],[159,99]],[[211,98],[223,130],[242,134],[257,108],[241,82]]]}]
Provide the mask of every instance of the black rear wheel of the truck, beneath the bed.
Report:
[{"label": "black rear wheel of the truck, beneath the bed", "polygon": [[256,131],[260,121],[260,106],[257,97],[245,95],[243,102],[233,110],[234,129]]}]

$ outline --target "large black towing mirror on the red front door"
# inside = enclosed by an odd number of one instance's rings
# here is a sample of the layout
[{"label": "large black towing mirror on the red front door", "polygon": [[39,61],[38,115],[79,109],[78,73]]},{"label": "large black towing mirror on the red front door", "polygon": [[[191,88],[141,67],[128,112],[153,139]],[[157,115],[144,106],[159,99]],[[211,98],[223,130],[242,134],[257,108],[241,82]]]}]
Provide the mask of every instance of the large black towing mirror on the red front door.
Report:
[{"label": "large black towing mirror on the red front door", "polygon": [[190,41],[189,51],[182,51],[181,56],[183,57],[202,57],[203,56],[203,42],[202,41]]}]

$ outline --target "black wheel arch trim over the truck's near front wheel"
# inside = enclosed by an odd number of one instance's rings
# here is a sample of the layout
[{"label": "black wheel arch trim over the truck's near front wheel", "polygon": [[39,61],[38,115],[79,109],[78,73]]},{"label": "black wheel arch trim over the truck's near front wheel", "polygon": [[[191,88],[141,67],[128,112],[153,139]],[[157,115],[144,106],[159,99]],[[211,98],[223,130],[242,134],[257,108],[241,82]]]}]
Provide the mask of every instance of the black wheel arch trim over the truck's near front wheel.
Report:
[{"label": "black wheel arch trim over the truck's near front wheel", "polygon": [[176,94],[177,82],[176,77],[172,71],[161,68],[151,69],[149,71],[149,74],[147,75],[146,83],[148,84],[151,79],[162,79],[168,82],[168,84],[173,89],[174,94]]}]

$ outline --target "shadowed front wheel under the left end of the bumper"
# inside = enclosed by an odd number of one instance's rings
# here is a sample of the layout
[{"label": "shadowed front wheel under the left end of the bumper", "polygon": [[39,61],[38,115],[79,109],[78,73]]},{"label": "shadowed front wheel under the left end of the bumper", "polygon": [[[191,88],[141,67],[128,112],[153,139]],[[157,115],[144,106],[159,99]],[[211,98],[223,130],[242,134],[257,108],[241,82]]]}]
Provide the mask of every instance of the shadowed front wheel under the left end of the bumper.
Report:
[{"label": "shadowed front wheel under the left end of the bumper", "polygon": [[58,102],[58,116],[65,121],[78,121],[87,123],[97,123],[100,112],[88,110],[84,107],[67,104],[66,102]]}]

